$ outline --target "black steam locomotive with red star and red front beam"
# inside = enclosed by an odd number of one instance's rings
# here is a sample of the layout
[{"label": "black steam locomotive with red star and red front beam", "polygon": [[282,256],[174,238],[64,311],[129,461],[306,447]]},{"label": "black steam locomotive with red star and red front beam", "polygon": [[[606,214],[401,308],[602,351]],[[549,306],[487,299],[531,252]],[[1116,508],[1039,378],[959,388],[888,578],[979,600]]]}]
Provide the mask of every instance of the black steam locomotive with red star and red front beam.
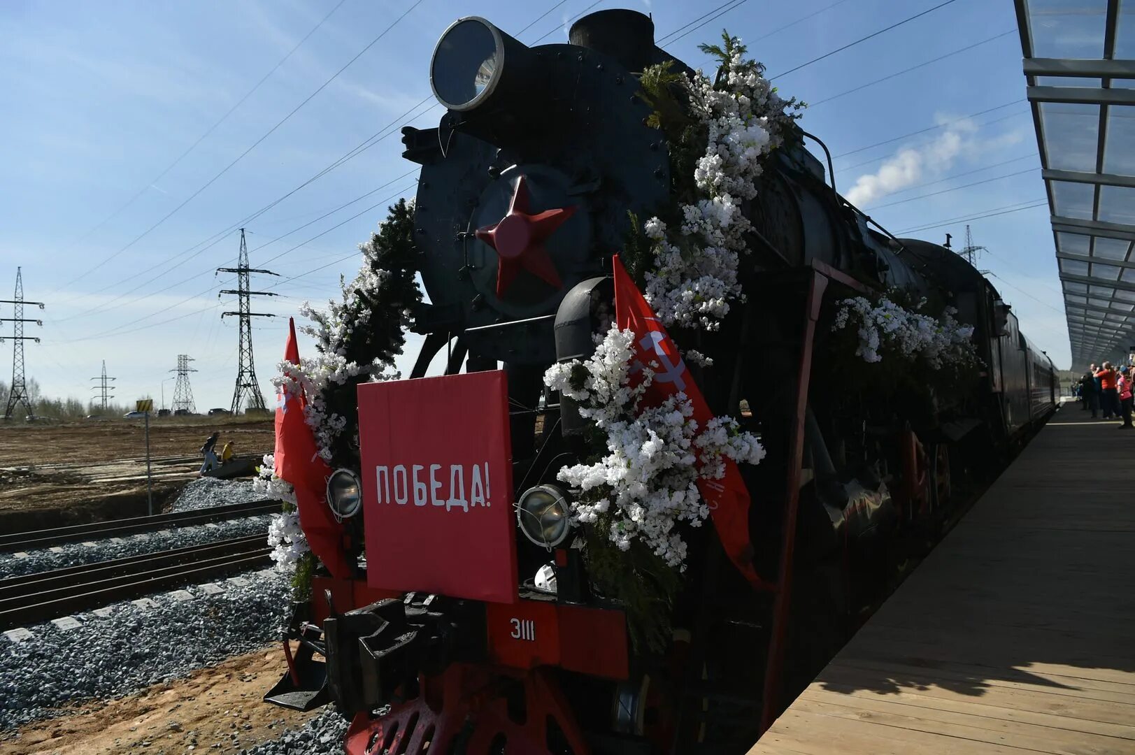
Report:
[{"label": "black steam locomotive with red star and red front beam", "polygon": [[[580,459],[583,422],[541,376],[594,350],[612,254],[632,217],[671,201],[674,145],[639,94],[641,72],[667,61],[689,70],[631,10],[535,48],[468,17],[436,47],[430,81],[447,112],[403,129],[403,157],[421,166],[424,343],[410,379],[359,388],[355,420],[378,439],[335,471],[326,502],[350,573],[317,570],[288,630],[299,651],[285,643],[289,672],[267,696],[334,702],[352,755],[745,752],[934,540],[955,490],[1054,411],[1052,362],[997,290],[850,205],[792,125],[746,205],[746,299],[698,336],[716,356],[698,372],[706,401],[767,450],[745,472],[742,534],[765,587],[703,527],[667,607],[672,640],[633,644],[627,606],[572,547],[572,492],[556,472]],[[970,383],[907,401],[829,372],[838,302],[896,287],[974,326],[983,367]],[[426,378],[443,349],[446,375]],[[460,463],[400,467],[411,430]],[[459,497],[438,496],[446,476],[460,476]]]}]

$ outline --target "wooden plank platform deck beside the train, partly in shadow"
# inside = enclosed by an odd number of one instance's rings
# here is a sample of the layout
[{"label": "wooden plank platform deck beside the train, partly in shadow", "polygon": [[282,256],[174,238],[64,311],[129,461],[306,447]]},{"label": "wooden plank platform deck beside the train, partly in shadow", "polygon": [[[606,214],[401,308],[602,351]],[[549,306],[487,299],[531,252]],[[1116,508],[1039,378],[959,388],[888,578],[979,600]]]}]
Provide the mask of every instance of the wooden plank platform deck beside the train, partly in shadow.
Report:
[{"label": "wooden plank platform deck beside the train, partly in shadow", "polygon": [[750,750],[1135,755],[1135,430],[1058,412]]}]

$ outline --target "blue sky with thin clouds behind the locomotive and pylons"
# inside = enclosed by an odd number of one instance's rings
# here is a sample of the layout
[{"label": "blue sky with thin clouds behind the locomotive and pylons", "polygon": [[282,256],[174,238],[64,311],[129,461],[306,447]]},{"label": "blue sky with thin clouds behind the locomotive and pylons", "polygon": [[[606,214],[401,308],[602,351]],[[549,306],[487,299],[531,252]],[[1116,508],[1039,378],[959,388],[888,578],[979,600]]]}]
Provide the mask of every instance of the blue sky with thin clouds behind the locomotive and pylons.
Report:
[{"label": "blue sky with thin clouds behind the locomotive and pylons", "polygon": [[[978,268],[1067,368],[1012,3],[953,0],[833,52],[942,1],[746,0],[700,27],[720,2],[594,9],[651,14],[656,39],[695,68],[709,64],[698,43],[722,28],[740,36],[782,95],[810,103],[801,125],[834,156],[839,191],[900,236],[950,233],[958,248],[968,223],[987,249]],[[271,403],[287,317],[301,325],[303,301],[336,296],[386,207],[413,195],[398,128],[442,115],[428,74],[442,32],[477,15],[530,45],[565,42],[591,2],[0,3],[0,299],[20,266],[25,297],[45,303],[25,312],[43,318],[27,328],[42,338],[26,342],[28,377],[44,395],[87,397],[104,360],[120,402],[168,405],[188,354],[197,410],[229,406],[237,326],[221,313],[236,302],[218,292],[235,280],[215,270],[236,263],[243,225],[252,267],[279,274],[253,277],[253,290],[279,294],[253,302],[277,316],[253,330]],[[5,381],[10,347],[0,346]],[[301,354],[311,349],[301,336]]]}]

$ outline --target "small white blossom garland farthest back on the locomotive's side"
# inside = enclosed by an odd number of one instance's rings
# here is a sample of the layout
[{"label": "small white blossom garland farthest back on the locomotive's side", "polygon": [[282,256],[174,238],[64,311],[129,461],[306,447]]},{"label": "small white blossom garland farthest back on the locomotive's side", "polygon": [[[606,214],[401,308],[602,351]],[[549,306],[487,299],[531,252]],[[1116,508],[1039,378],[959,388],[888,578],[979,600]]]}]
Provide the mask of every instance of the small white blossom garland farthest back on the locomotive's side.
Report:
[{"label": "small white blossom garland farthest back on the locomotive's side", "polygon": [[[918,308],[925,302],[923,300]],[[877,304],[855,296],[840,302],[832,330],[856,327],[859,345],[855,355],[868,363],[882,361],[878,352],[889,346],[905,359],[925,359],[935,370],[947,364],[973,364],[978,361],[972,342],[974,328],[958,322],[953,317],[957,311],[948,307],[941,318],[934,319],[906,310],[886,296]]]}]

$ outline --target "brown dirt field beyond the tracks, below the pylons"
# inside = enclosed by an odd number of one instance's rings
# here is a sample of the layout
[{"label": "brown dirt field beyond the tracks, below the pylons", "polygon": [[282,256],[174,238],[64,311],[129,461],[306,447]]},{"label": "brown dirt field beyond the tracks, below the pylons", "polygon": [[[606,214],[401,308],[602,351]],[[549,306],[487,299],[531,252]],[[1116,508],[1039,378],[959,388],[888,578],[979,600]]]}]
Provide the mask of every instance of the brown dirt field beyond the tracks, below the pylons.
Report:
[{"label": "brown dirt field beyond the tracks, below the pylons", "polygon": [[[210,433],[238,456],[275,444],[270,418],[150,419],[154,510],[196,476]],[[146,513],[142,420],[0,423],[0,529],[22,531]]]}]

